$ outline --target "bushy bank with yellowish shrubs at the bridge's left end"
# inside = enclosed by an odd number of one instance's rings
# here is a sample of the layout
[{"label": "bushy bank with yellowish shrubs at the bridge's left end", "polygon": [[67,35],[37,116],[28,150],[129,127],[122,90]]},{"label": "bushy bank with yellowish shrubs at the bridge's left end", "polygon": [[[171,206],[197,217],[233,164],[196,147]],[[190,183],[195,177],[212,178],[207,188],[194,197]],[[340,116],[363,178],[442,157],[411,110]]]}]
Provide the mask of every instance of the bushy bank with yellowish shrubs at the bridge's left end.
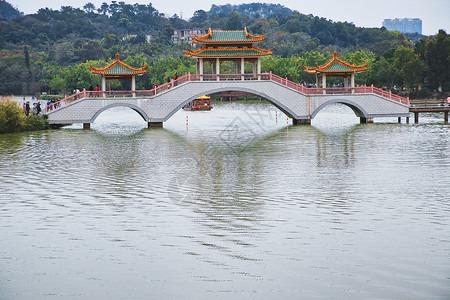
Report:
[{"label": "bushy bank with yellowish shrubs at the bridge's left end", "polygon": [[25,116],[16,101],[0,98],[0,133],[43,130],[50,128],[47,115]]}]

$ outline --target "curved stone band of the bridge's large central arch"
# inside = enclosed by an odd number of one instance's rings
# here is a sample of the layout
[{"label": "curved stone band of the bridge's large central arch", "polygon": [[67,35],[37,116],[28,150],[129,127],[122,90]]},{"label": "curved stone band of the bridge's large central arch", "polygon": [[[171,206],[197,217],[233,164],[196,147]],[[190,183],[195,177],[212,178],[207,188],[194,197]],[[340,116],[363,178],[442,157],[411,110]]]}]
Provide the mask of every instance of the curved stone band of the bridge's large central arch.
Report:
[{"label": "curved stone band of the bridge's large central arch", "polygon": [[277,107],[279,110],[281,110],[283,113],[285,113],[287,116],[289,117],[293,117],[295,116],[295,113],[287,106],[283,105],[280,101],[278,101],[277,99],[270,97],[269,95],[254,90],[254,89],[250,89],[250,88],[242,88],[242,87],[223,87],[223,88],[214,88],[214,89],[206,89],[204,92],[202,93],[198,93],[195,94],[194,96],[189,97],[187,100],[183,100],[183,102],[181,102],[174,110],[172,110],[167,117],[164,119],[164,121],[167,121],[168,119],[170,119],[170,117],[172,117],[177,111],[179,111],[180,109],[183,108],[183,106],[185,106],[186,104],[188,104],[189,102],[195,100],[198,97],[201,97],[203,95],[211,95],[211,94],[215,94],[215,93],[220,93],[220,92],[246,92],[249,94],[253,94],[256,96],[260,96],[266,100],[268,100],[270,103],[272,103],[275,107]]}]

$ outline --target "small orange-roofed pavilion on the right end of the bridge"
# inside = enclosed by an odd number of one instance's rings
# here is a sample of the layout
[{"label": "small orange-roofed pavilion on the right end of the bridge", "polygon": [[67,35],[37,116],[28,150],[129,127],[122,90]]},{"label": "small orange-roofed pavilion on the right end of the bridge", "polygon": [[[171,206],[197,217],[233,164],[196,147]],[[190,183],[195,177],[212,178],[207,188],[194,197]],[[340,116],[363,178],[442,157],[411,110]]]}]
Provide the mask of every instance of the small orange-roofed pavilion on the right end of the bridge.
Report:
[{"label": "small orange-roofed pavilion on the right end of the bridge", "polygon": [[333,58],[329,62],[321,66],[316,63],[314,68],[309,68],[306,65],[303,65],[303,67],[306,73],[316,74],[316,87],[318,88],[320,87],[319,78],[322,78],[322,88],[327,87],[327,77],[344,77],[344,87],[349,87],[348,78],[350,77],[350,87],[354,88],[355,74],[367,71],[368,64],[362,66],[350,65],[337,58],[337,52],[334,51]]}]

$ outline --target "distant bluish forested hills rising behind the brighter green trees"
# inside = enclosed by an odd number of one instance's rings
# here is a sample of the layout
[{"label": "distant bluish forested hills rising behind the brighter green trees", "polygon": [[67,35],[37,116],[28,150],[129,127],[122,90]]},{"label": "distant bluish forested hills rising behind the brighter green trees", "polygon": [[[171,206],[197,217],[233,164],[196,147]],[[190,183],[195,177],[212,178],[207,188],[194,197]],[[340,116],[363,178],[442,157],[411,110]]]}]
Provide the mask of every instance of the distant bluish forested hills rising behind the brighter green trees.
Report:
[{"label": "distant bluish forested hills rising behind the brighter green trees", "polygon": [[[82,9],[70,6],[63,6],[60,10],[45,8],[37,14],[6,21],[0,26],[0,43],[5,45],[4,49],[29,45],[37,51],[47,51],[55,43],[63,41],[75,48],[88,41],[113,46],[129,35],[140,37],[133,40],[134,43],[151,35],[153,43],[167,45],[174,29],[208,27],[224,30],[247,27],[251,33],[267,33],[264,46],[275,46],[275,54],[282,56],[320,51],[321,47],[329,46],[337,50],[364,49],[381,54],[389,48],[409,43],[396,32],[333,22],[291,11],[278,4],[213,5],[210,11],[198,10],[192,18],[184,20],[177,15],[165,16],[151,3],[131,5],[116,1],[109,5],[104,2],[101,7],[87,3]],[[101,51],[99,53],[101,55]],[[89,59],[96,58],[101,56]]]}]

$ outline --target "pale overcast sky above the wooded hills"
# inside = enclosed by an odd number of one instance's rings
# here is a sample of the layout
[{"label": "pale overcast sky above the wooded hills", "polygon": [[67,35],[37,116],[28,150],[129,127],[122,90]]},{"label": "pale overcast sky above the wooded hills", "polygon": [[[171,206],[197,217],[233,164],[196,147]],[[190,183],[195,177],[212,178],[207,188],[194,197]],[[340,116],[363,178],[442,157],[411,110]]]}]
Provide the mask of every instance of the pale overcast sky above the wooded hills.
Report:
[{"label": "pale overcast sky above the wooded hills", "polygon": [[[7,0],[25,14],[36,13],[40,8],[59,10],[61,6],[82,8],[87,2],[99,7],[110,0]],[[125,3],[148,4],[168,16],[181,15],[183,19],[192,17],[194,11],[208,11],[212,4],[240,4],[252,2],[279,3],[303,14],[324,17],[333,21],[352,22],[358,27],[381,27],[383,19],[420,18],[422,33],[436,34],[439,29],[450,33],[450,0],[280,0],[280,1],[237,1],[237,0],[117,0]]]}]

